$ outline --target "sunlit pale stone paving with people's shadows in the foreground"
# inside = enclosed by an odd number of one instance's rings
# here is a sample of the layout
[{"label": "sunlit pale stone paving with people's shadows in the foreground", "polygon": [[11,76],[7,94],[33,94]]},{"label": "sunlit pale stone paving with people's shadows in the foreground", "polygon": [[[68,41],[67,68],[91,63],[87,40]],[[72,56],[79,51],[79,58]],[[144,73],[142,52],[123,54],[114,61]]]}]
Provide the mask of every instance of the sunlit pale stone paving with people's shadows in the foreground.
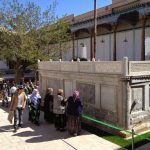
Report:
[{"label": "sunlit pale stone paving with people's shadows in the foreground", "polygon": [[13,133],[13,126],[7,121],[9,108],[0,103],[0,150],[122,150],[94,134],[82,131],[82,135],[70,137],[65,132],[56,131],[53,124],[46,123],[43,113],[40,126],[28,121],[28,111],[24,112],[24,128]]}]

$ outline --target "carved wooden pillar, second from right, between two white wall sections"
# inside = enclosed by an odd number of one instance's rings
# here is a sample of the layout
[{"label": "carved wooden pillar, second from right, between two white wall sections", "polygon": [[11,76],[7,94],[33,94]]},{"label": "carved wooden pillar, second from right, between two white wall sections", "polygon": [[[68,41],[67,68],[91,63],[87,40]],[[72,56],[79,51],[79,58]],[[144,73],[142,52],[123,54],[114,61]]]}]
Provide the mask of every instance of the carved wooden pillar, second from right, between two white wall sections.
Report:
[{"label": "carved wooden pillar, second from right, between two white wall sections", "polygon": [[113,61],[117,60],[117,53],[116,53],[116,30],[117,30],[117,23],[113,23],[112,25],[113,30],[113,37],[114,37],[114,43],[113,43]]}]

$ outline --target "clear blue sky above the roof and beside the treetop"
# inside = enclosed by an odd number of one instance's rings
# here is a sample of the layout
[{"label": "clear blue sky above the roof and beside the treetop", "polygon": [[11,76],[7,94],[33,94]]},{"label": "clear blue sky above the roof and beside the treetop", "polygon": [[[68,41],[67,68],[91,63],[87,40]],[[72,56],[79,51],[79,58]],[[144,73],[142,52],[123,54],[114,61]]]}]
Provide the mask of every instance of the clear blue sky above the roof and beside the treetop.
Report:
[{"label": "clear blue sky above the roof and beside the treetop", "polygon": [[[21,3],[25,2],[35,2],[39,5],[42,10],[46,9],[49,4],[52,3],[53,0],[18,0]],[[83,14],[88,11],[93,10],[94,0],[57,0],[57,9],[56,14],[61,17],[63,15],[69,14]],[[97,0],[97,8],[110,5],[112,0]]]}]

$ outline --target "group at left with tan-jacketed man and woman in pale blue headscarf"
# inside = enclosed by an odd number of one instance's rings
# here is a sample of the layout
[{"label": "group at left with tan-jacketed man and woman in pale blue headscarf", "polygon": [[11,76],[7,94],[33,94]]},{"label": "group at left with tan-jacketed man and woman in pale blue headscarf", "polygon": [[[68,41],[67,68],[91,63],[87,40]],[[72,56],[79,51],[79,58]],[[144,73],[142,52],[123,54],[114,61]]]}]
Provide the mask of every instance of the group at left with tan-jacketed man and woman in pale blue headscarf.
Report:
[{"label": "group at left with tan-jacketed man and woman in pale blue headscarf", "polygon": [[16,132],[19,127],[22,128],[23,126],[23,110],[25,109],[26,104],[29,108],[29,120],[32,123],[39,125],[41,96],[39,94],[38,84],[33,85],[29,82],[22,83],[18,86],[14,84],[12,89],[13,93],[11,94],[10,112],[13,112],[14,132]]}]

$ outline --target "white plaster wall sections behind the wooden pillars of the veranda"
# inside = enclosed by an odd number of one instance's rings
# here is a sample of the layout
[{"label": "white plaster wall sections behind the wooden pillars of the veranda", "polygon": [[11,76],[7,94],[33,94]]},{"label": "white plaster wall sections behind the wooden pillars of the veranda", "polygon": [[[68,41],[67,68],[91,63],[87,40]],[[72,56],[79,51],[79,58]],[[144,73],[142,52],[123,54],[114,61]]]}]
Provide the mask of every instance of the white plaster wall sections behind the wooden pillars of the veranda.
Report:
[{"label": "white plaster wall sections behind the wooden pillars of the veranda", "polygon": [[[130,31],[122,31],[116,34],[116,53],[117,60],[122,60],[123,57],[127,56],[129,60],[140,60],[141,57],[141,28],[133,29]],[[124,42],[124,39],[128,42]],[[150,37],[150,27],[145,29],[145,38]],[[104,43],[101,40],[104,40]],[[102,61],[113,60],[113,33],[107,35],[97,36],[97,48],[96,48],[96,59]],[[90,38],[79,39],[75,41],[75,56],[81,57],[82,46],[80,43],[84,43],[87,50],[87,59],[90,59]],[[72,49],[70,49],[65,60],[72,58]]]}]

